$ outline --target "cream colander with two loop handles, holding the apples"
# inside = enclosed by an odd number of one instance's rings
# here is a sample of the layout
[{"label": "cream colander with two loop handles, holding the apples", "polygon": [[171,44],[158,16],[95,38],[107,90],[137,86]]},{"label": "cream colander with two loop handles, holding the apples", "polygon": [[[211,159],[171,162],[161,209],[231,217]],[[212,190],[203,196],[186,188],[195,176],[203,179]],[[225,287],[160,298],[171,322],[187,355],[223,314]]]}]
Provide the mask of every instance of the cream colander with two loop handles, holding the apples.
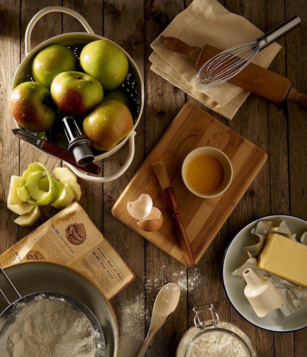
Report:
[{"label": "cream colander with two loop handles, holding the apples", "polygon": [[[31,50],[31,32],[34,28],[34,25],[36,22],[45,14],[48,14],[49,12],[54,12],[54,11],[59,11],[59,12],[65,12],[66,14],[74,16],[77,20],[81,22],[81,24],[84,26],[85,30],[87,32],[72,32],[68,34],[62,34],[62,35],[57,35],[54,37],[51,37],[50,39],[42,42],[41,44],[37,45],[34,49]],[[31,64],[34,56],[39,52],[40,50],[44,49],[47,46],[55,45],[55,44],[60,44],[69,47],[70,49],[73,50],[76,56],[78,56],[82,50],[82,48],[96,40],[108,40],[115,44],[117,47],[119,47],[124,54],[126,55],[128,61],[129,61],[129,72],[127,75],[127,78],[125,79],[124,83],[121,85],[120,89],[127,95],[129,98],[130,102],[130,107],[129,110],[132,114],[132,118],[134,121],[134,125],[132,127],[132,130],[128,135],[124,137],[114,148],[108,150],[108,151],[99,151],[99,152],[94,152],[94,161],[105,159],[106,157],[109,157],[110,155],[114,154],[116,151],[118,151],[125,143],[126,141],[129,140],[129,154],[127,156],[125,164],[121,167],[121,169],[114,174],[110,176],[105,176],[105,177],[98,177],[98,176],[90,176],[82,172],[82,167],[78,169],[75,166],[72,166],[71,164],[66,162],[66,165],[73,171],[77,176],[83,178],[84,180],[87,181],[93,181],[93,182],[108,182],[115,180],[116,178],[120,177],[124,172],[128,169],[130,166],[132,159],[134,157],[134,152],[135,152],[135,144],[134,144],[134,136],[136,135],[136,126],[140,121],[143,107],[144,107],[144,85],[142,81],[142,77],[140,74],[139,69],[137,68],[135,62],[132,60],[132,58],[127,54],[127,52],[122,49],[119,45],[117,45],[115,42],[106,39],[103,36],[100,35],[95,35],[94,31],[91,29],[89,24],[85,21],[84,17],[82,17],[78,12],[71,10],[67,7],[64,6],[49,6],[46,7],[39,12],[31,19],[29,22],[26,32],[25,32],[25,58],[22,60],[20,63],[19,67],[17,68],[17,71],[15,73],[13,82],[12,82],[12,87],[11,90],[13,90],[17,85],[19,85],[22,82],[25,81],[31,81]],[[19,124],[14,120],[16,126],[20,128]],[[43,152],[46,155],[49,155],[51,157],[54,157],[55,159],[59,159],[59,157],[54,156],[50,154],[49,152],[43,151],[39,149],[37,146],[37,150]]]}]

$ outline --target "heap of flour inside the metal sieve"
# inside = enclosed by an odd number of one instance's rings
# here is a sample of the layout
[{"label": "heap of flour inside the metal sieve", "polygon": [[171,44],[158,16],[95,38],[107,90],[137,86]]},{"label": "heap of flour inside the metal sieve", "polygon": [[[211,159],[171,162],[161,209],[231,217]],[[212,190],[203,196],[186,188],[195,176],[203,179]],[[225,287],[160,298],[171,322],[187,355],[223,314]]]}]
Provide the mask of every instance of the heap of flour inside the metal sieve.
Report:
[{"label": "heap of flour inside the metal sieve", "polygon": [[4,357],[92,357],[95,331],[87,317],[65,300],[36,299],[16,311],[1,337]]}]

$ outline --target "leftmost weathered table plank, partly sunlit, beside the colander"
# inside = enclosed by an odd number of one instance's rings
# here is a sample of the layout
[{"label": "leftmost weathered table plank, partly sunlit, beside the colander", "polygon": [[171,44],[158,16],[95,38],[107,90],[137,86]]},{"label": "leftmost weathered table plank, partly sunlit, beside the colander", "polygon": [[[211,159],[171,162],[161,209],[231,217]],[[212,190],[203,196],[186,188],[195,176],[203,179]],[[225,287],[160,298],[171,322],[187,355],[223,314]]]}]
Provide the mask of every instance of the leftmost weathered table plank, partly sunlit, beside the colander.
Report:
[{"label": "leftmost weathered table plank, partly sunlit, beside the colander", "polygon": [[[9,96],[14,73],[20,63],[20,9],[17,2],[1,1],[1,52],[0,56],[0,210],[2,231],[0,240],[0,253],[6,251],[17,242],[18,227],[14,223],[16,213],[7,209],[7,195],[11,175],[19,176],[19,141],[12,135],[11,128],[14,127],[13,117],[9,108]],[[2,40],[3,39],[3,40]]]}]

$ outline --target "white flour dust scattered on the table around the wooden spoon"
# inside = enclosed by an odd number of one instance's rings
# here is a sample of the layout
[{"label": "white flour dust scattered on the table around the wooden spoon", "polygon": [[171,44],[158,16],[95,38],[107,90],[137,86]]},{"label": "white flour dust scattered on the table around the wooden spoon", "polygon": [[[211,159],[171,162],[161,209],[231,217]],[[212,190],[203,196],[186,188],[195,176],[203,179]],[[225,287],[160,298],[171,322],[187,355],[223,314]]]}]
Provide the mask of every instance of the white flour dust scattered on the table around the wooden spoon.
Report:
[{"label": "white flour dust scattered on the table around the wooden spoon", "polygon": [[[162,269],[168,270],[166,266],[163,266],[161,270]],[[187,292],[187,283],[189,291],[193,291],[193,289],[197,289],[201,286],[202,276],[200,277],[194,272],[191,274],[193,277],[188,278],[187,281],[186,273],[187,270],[184,269],[178,273],[173,273],[170,279],[165,280],[163,274],[157,271],[155,275],[152,274],[150,279],[145,278],[146,293],[149,294],[151,290],[158,293],[163,285],[171,281],[178,284],[181,293]],[[123,305],[119,306],[117,317],[119,325],[119,357],[135,357],[139,352],[148,332],[155,298],[156,297],[154,297],[152,303],[146,304],[146,308],[143,294],[135,296],[131,301],[123,301]],[[170,339],[170,336],[164,336],[163,329],[160,329],[147,348],[146,357],[169,357]]]}]

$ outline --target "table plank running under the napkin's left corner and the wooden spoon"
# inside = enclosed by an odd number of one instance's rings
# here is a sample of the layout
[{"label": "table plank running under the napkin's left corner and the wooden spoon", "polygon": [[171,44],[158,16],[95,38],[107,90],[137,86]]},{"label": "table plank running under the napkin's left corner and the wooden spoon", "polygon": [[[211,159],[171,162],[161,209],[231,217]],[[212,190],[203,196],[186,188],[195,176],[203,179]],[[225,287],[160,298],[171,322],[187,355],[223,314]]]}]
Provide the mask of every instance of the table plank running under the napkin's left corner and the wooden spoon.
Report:
[{"label": "table plank running under the napkin's left corner and the wooden spoon", "polygon": [[[145,2],[145,157],[185,103],[184,93],[151,71],[151,62],[148,60],[152,53],[151,42],[183,9],[183,1]],[[145,248],[146,333],[160,288],[170,281],[178,283],[181,288],[175,313],[158,331],[146,355],[175,356],[178,342],[187,329],[187,269],[148,241],[145,242]]]}]

